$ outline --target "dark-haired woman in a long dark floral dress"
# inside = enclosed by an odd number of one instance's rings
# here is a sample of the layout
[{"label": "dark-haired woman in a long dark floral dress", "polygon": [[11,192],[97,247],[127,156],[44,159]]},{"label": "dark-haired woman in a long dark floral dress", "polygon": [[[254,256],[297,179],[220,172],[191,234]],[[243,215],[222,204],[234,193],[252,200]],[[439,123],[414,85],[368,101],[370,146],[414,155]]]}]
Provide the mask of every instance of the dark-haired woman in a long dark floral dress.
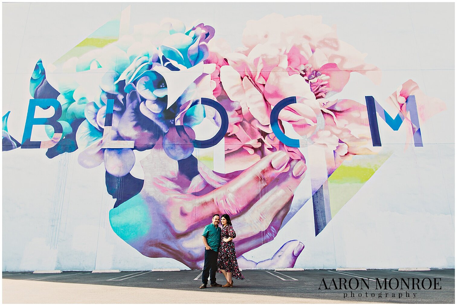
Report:
[{"label": "dark-haired woman in a long dark floral dress", "polygon": [[233,238],[236,233],[232,227],[230,216],[223,214],[221,216],[222,231],[221,231],[221,246],[218,255],[218,272],[224,274],[227,279],[227,284],[223,287],[233,287],[232,278],[244,280],[238,268],[238,261],[236,260],[235,244]]}]

